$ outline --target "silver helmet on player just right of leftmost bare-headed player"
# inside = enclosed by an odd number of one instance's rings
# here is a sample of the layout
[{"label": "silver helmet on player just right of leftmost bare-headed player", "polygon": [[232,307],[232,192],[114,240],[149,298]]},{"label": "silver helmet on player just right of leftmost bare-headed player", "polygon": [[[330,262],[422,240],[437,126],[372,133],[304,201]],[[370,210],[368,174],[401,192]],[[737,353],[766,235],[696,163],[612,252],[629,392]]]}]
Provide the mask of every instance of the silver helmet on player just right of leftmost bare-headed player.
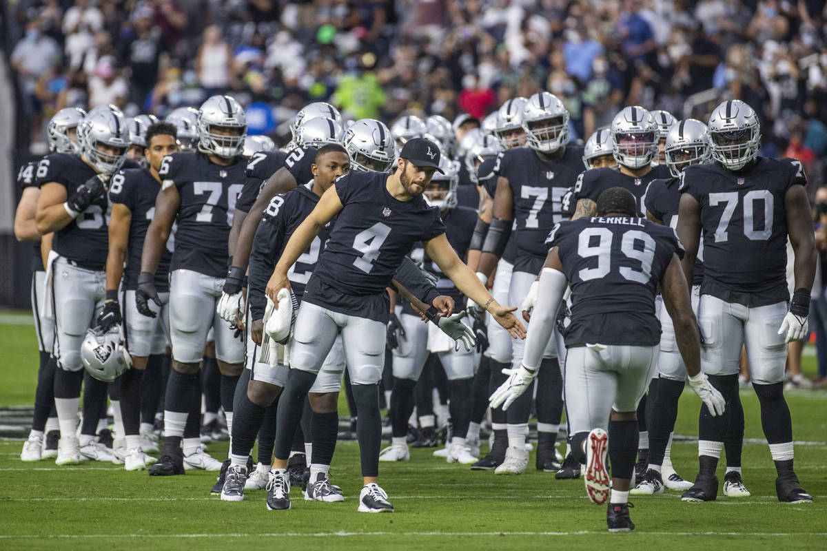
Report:
[{"label": "silver helmet on player just right of leftmost bare-headed player", "polygon": [[[218,134],[216,128],[236,131]],[[198,151],[232,159],[244,150],[247,118],[244,108],[231,96],[208,97],[198,109]]]}]

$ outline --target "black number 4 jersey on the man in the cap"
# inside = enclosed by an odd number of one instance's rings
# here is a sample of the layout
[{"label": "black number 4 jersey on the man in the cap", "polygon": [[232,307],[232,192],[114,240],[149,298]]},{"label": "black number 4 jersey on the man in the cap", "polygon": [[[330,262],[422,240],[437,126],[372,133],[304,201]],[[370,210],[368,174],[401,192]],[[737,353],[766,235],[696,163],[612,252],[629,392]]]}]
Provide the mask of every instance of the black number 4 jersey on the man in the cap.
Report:
[{"label": "black number 4 jersey on the man in the cap", "polygon": [[[344,208],[311,280],[349,296],[384,294],[414,244],[445,233],[436,207],[428,207],[423,197],[395,199],[385,188],[386,178],[385,173],[351,171],[337,179]],[[311,299],[305,295],[305,300]],[[311,302],[326,306],[323,297]]]}]

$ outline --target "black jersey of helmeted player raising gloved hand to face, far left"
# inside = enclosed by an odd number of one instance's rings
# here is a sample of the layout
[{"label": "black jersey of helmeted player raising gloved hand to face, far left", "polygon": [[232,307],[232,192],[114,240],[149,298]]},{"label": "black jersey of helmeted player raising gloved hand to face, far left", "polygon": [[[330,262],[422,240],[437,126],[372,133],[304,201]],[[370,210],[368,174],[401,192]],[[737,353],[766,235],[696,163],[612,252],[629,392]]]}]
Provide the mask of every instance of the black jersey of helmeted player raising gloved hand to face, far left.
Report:
[{"label": "black jersey of helmeted player raising gloved hand to face, far left", "polygon": [[[74,155],[50,153],[37,165],[35,178],[40,186],[50,182],[60,183],[66,188],[66,196],[71,197],[95,174],[92,167]],[[105,269],[109,253],[108,217],[109,201],[103,194],[77,218],[55,231],[52,250],[84,268]]]}]

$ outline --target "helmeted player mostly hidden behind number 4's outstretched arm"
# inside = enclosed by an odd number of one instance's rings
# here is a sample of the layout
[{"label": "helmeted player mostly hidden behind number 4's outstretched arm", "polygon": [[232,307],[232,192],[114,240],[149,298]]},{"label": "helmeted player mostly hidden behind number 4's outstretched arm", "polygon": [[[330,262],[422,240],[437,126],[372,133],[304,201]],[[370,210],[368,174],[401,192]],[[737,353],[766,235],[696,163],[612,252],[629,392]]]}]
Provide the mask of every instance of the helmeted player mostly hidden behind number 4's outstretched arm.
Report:
[{"label": "helmeted player mostly hidden behind number 4's outstretched arm", "polygon": [[[445,222],[448,243],[460,257],[466,255],[471,242],[471,227],[476,221],[476,211],[457,206],[457,168],[452,161],[443,158],[440,162],[442,173],[434,173],[431,183],[423,192],[428,205],[437,207]],[[422,247],[415,247],[411,258],[422,262],[423,267],[439,277],[437,290],[451,296],[455,302],[465,302],[451,280],[440,277],[442,272],[425,254]],[[391,305],[390,319],[397,320]],[[392,427],[391,445],[382,450],[380,461],[407,461],[408,419],[414,411],[414,386],[425,366],[428,353],[435,353],[445,369],[448,380],[448,405],[452,420],[452,439],[447,449],[448,463],[474,463],[477,460],[467,442],[470,422],[471,382],[474,378],[474,354],[471,349],[455,349],[452,340],[443,337],[437,327],[423,325],[418,311],[403,305],[399,323],[399,335],[392,334],[394,386],[390,397],[390,422]],[[395,333],[395,327],[390,331]],[[420,412],[421,415],[421,412]],[[477,429],[479,440],[479,429]],[[479,454],[477,442],[477,454]]]}]

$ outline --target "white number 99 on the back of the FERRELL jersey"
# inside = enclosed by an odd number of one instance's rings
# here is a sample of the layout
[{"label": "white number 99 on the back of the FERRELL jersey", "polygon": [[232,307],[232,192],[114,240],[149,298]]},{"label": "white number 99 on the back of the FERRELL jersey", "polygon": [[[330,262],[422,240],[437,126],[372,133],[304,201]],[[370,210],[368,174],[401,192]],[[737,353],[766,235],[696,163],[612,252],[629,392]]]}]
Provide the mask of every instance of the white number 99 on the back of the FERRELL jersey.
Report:
[{"label": "white number 99 on the back of the FERRELL jersey", "polygon": [[[595,245],[591,245],[593,237],[598,238]],[[608,228],[586,228],[586,230],[581,231],[577,240],[577,254],[583,259],[592,256],[597,257],[597,267],[583,268],[577,273],[581,281],[605,278],[609,275],[612,269],[613,239],[614,234]],[[643,249],[636,249],[636,242],[642,243]],[[620,275],[629,281],[643,283],[644,285],[649,283],[649,279],[652,278],[652,263],[655,259],[655,240],[652,236],[641,230],[628,230],[624,232],[621,238],[620,252],[627,258],[637,260],[640,263],[640,269],[630,268],[629,266],[619,267]]]}]

